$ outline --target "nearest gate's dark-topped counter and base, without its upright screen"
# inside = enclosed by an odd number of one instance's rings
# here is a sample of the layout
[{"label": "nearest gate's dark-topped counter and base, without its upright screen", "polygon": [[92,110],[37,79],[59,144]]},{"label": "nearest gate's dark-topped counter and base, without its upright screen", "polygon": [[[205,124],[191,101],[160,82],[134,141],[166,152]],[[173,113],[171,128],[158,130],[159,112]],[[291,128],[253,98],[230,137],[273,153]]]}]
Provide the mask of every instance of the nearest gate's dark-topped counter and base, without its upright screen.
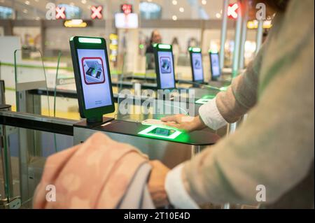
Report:
[{"label": "nearest gate's dark-topped counter and base, without its upright screen", "polygon": [[[0,111],[1,127],[1,159],[3,166],[3,182],[6,191],[0,201],[0,208],[31,208],[31,198],[41,179],[45,157],[34,154],[32,150],[38,148],[39,141],[45,141],[45,133],[72,137],[72,145],[82,143],[97,131],[102,131],[115,141],[134,145],[150,159],[158,159],[172,168],[186,161],[200,152],[207,145],[212,145],[220,138],[210,131],[195,131],[185,133],[174,129],[164,129],[158,126],[147,126],[141,122],[130,120],[108,120],[104,123],[91,124],[85,121],[66,120],[62,118],[46,117],[29,113],[10,111],[10,106],[2,106]],[[10,134],[18,135],[18,162],[10,152],[13,142]],[[34,137],[36,136],[36,137]],[[40,147],[40,145],[39,145]],[[64,148],[66,149],[66,148]],[[60,151],[60,150],[59,150]],[[18,178],[14,178],[14,169],[20,169]],[[20,184],[20,189],[15,186]]]}]

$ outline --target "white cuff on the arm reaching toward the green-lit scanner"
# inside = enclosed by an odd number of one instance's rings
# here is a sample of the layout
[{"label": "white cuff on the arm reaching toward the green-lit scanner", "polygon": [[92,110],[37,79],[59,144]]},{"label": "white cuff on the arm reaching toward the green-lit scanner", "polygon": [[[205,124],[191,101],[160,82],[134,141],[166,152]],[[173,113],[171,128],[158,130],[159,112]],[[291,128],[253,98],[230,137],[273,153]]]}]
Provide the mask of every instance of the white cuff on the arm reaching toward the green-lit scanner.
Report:
[{"label": "white cuff on the arm reaching toward the green-lit scanner", "polygon": [[216,106],[216,98],[211,99],[199,108],[199,115],[207,127],[218,130],[228,124]]}]

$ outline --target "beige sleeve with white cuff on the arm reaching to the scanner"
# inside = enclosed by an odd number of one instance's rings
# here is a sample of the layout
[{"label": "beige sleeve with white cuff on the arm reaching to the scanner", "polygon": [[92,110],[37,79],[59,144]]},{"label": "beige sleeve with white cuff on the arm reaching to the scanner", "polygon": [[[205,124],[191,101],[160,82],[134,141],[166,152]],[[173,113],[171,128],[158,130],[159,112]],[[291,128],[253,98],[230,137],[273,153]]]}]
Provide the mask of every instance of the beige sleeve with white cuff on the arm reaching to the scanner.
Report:
[{"label": "beige sleeve with white cuff on the arm reaching to the scanner", "polygon": [[246,114],[257,101],[258,73],[265,44],[262,45],[253,62],[248,64],[244,73],[232,80],[226,92],[200,107],[199,114],[204,124],[211,129],[219,129],[227,122],[232,123]]}]

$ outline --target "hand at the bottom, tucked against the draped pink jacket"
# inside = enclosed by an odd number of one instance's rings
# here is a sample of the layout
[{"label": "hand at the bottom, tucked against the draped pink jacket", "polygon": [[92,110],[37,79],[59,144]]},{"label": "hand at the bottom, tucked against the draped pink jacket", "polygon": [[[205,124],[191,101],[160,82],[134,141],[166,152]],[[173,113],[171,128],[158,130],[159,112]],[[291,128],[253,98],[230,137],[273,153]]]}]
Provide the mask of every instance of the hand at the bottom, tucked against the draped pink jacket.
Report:
[{"label": "hand at the bottom, tucked against the draped pink jacket", "polygon": [[169,205],[167,192],[165,191],[165,178],[169,168],[158,160],[150,161],[152,168],[148,189],[156,208]]}]

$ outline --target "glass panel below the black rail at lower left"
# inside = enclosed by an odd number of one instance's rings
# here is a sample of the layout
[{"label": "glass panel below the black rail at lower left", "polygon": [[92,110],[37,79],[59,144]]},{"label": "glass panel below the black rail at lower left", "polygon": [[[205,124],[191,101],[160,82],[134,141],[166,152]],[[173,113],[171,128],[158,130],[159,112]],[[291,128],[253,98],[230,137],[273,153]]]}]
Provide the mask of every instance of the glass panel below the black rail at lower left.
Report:
[{"label": "glass panel below the black rail at lower left", "polygon": [[10,193],[12,197],[20,196],[21,208],[31,208],[34,191],[41,180],[46,158],[55,152],[71,148],[73,136],[10,126],[5,128],[12,172],[9,183],[13,186],[13,192]]}]

